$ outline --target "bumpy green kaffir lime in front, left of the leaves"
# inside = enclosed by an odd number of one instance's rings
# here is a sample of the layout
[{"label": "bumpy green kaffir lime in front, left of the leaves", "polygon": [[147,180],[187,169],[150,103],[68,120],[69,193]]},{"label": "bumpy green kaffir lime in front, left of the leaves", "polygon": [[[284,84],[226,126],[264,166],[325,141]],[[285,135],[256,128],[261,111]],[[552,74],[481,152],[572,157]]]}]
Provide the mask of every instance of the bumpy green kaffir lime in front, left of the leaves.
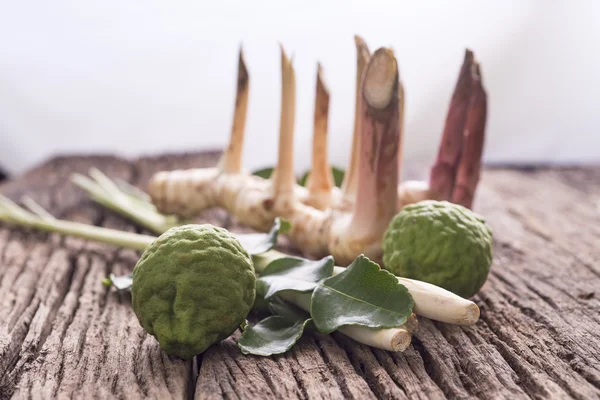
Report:
[{"label": "bumpy green kaffir lime in front, left of the leaves", "polygon": [[246,319],[256,275],[248,252],[213,225],[169,229],[133,270],[133,310],[168,354],[190,359]]}]

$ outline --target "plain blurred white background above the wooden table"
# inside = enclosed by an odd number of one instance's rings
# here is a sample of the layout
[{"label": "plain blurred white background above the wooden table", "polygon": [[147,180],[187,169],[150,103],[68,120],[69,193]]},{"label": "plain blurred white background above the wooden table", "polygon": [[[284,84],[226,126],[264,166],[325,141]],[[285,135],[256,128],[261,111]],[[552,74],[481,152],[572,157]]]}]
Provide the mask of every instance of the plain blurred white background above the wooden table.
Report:
[{"label": "plain blurred white background above the wooden table", "polygon": [[296,168],[310,163],[317,61],[331,91],[331,160],[344,166],[354,34],[397,55],[407,162],[435,155],[465,47],[489,96],[487,162],[597,162],[599,15],[594,0],[2,2],[0,165],[222,147],[240,43],[251,74],[244,164],[272,164],[281,42],[297,76]]}]

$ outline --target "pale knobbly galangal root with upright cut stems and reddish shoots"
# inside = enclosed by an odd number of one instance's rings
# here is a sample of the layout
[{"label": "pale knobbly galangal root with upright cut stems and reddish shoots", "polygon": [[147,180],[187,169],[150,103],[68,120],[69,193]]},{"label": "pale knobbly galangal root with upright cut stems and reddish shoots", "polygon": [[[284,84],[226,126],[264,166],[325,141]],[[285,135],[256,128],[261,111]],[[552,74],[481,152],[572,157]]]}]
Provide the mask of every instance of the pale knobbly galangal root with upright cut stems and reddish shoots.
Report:
[{"label": "pale knobbly galangal root with upright cut stems and reddish shoots", "polygon": [[[332,185],[327,161],[329,92],[317,72],[313,164],[306,187],[293,170],[295,72],[281,49],[282,98],[277,165],[270,179],[241,171],[249,76],[240,52],[234,128],[215,168],[160,172],[148,193],[157,209],[193,217],[225,208],[239,222],[268,230],[275,217],[291,223],[287,233],[305,255],[334,256],[347,265],[360,254],[380,261],[381,241],[392,217],[406,204],[425,199],[472,204],[483,151],[487,99],[479,65],[467,50],[450,102],[437,161],[429,182],[398,184],[401,167],[404,89],[390,49],[372,56],[356,37],[357,95],[352,154],[342,188]],[[240,100],[241,99],[241,100]]]}]

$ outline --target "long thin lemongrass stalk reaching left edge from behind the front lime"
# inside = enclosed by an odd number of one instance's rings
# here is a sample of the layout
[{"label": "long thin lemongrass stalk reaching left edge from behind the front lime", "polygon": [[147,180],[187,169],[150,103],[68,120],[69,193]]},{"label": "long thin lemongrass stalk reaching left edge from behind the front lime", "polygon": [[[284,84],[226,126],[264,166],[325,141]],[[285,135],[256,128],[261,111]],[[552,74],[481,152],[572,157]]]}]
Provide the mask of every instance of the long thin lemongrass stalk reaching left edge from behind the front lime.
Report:
[{"label": "long thin lemongrass stalk reaching left edge from behind the front lime", "polygon": [[112,244],[118,247],[144,250],[156,237],[141,235],[133,232],[124,232],[116,229],[102,228],[83,224],[80,222],[65,221],[59,219],[42,218],[30,213],[7,197],[0,195],[0,221],[6,221],[16,225],[35,228],[45,232],[56,232],[63,235],[80,237]]}]

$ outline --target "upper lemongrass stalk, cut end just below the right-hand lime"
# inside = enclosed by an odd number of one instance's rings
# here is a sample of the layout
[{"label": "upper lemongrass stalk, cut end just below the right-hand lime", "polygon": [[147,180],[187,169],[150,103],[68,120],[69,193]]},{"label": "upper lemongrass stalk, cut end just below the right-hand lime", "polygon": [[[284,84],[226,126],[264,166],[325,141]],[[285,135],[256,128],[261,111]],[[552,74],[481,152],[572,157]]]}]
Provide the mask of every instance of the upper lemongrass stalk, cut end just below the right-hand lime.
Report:
[{"label": "upper lemongrass stalk, cut end just below the right-hand lime", "polygon": [[[270,250],[254,256],[254,268],[257,272],[264,269],[278,258],[288,257],[287,254]],[[336,266],[333,274],[345,270]],[[414,300],[413,312],[422,317],[456,325],[473,325],[479,320],[479,307],[471,300],[464,299],[446,289],[427,282],[397,277],[398,281],[408,289]]]}]

